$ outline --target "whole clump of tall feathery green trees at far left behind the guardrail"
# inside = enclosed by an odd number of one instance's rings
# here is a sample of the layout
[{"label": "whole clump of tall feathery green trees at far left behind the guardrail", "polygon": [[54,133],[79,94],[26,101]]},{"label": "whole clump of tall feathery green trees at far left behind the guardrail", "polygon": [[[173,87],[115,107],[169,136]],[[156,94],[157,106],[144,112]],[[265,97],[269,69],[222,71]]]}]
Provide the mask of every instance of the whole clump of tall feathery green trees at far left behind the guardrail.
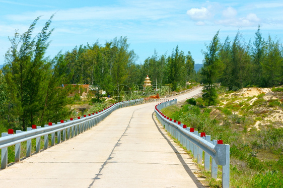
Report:
[{"label": "whole clump of tall feathery green trees at far left behind the guardrail", "polygon": [[31,36],[39,17],[28,31],[16,32],[14,38],[9,38],[11,48],[6,53],[3,68],[9,85],[5,88],[9,93],[6,113],[14,115],[7,119],[9,128],[25,130],[31,124],[56,122],[70,114],[65,107],[70,89],[59,87],[65,79],[66,62],[60,54],[53,59],[44,58],[53,31],[49,30],[52,17],[33,39]]}]

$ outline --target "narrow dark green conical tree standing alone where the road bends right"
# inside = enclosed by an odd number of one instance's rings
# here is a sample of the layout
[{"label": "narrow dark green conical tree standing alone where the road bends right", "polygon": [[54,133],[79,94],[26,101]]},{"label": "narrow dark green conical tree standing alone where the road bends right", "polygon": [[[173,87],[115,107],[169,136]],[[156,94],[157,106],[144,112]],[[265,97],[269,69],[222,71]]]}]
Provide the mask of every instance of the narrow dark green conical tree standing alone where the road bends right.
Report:
[{"label": "narrow dark green conical tree standing alone where the road bends right", "polygon": [[207,51],[202,52],[204,55],[203,67],[201,68],[201,74],[204,76],[204,86],[202,89],[202,98],[205,102],[215,104],[217,99],[217,92],[214,86],[215,80],[218,78],[218,69],[220,66],[219,58],[219,31],[213,37],[209,46],[206,46]]}]

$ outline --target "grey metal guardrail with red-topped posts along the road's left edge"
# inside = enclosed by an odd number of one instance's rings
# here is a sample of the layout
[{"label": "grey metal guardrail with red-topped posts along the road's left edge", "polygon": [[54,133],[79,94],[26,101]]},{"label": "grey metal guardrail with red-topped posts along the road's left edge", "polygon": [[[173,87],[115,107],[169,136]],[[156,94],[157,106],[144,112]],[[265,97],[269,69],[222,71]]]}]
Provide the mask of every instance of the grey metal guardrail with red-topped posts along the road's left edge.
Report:
[{"label": "grey metal guardrail with red-topped posts along the road's left edge", "polygon": [[[48,135],[51,135],[51,146],[55,145],[55,134],[57,133],[57,144],[61,143],[61,141],[65,141],[71,139],[80,133],[83,133],[90,128],[94,127],[100,121],[102,121],[105,117],[107,117],[112,111],[132,106],[136,104],[143,103],[144,99],[135,99],[129,101],[122,101],[111,106],[105,108],[96,113],[84,115],[83,117],[78,117],[73,120],[64,121],[61,120],[57,122],[57,124],[49,122],[44,126],[44,128],[40,126],[32,126],[32,128],[27,128],[27,131],[16,131],[14,134],[13,130],[9,130],[8,133],[2,133],[2,137],[0,138],[0,149],[1,149],[1,168],[8,167],[8,147],[15,145],[15,162],[19,162],[21,159],[21,143],[27,141],[27,149],[26,156],[31,156],[31,139],[36,138],[36,151],[35,153],[40,152],[40,140],[41,137],[44,136],[44,149],[48,149]],[[61,138],[62,132],[62,138]]]}]

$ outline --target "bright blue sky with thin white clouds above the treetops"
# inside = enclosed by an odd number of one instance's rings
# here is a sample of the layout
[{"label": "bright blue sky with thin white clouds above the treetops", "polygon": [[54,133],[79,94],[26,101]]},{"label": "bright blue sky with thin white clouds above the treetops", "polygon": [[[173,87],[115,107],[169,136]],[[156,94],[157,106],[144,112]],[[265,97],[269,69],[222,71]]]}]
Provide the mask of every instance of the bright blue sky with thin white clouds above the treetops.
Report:
[{"label": "bright blue sky with thin white clouds above the treetops", "polygon": [[[55,14],[47,55],[72,50],[80,44],[127,36],[137,63],[152,56],[171,54],[177,45],[201,64],[205,44],[220,30],[221,42],[240,31],[246,42],[254,40],[258,25],[262,36],[283,38],[283,1],[173,1],[173,0],[0,0],[0,65],[11,46],[8,36],[27,31],[38,16],[35,34]],[[281,40],[282,41],[282,40]]]}]

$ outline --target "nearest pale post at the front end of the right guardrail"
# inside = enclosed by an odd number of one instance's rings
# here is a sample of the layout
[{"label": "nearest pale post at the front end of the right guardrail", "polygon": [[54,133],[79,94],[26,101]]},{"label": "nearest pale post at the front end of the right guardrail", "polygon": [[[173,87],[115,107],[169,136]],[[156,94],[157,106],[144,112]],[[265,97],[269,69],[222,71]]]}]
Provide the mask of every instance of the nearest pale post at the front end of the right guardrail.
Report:
[{"label": "nearest pale post at the front end of the right guardrail", "polygon": [[230,145],[225,144],[226,165],[222,166],[222,187],[230,186]]}]

